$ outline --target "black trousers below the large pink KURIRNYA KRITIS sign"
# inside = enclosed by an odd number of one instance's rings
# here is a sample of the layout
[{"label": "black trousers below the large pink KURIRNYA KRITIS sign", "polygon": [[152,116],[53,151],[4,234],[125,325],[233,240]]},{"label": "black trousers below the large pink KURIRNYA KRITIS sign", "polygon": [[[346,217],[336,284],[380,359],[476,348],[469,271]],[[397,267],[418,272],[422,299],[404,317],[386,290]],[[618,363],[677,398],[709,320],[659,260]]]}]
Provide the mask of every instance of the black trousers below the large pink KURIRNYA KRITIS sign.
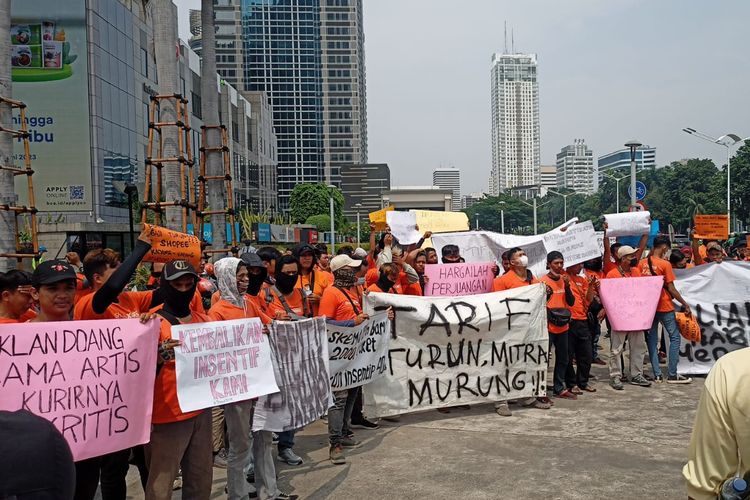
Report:
[{"label": "black trousers below the large pink KURIRNYA KRITIS sign", "polygon": [[100,477],[102,500],[125,500],[129,458],[130,448],[76,462],[75,500],[93,500]]}]

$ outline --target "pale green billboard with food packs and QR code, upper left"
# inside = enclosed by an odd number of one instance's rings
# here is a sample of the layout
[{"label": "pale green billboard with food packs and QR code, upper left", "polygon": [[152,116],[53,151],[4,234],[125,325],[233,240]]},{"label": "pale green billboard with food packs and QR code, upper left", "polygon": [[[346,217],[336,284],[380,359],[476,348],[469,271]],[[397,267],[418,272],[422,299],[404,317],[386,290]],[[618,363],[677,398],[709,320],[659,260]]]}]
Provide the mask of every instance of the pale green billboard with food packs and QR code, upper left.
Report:
[{"label": "pale green billboard with food packs and QR code, upper left", "polygon": [[[92,210],[85,0],[11,2],[13,98],[27,105],[34,193],[40,211]],[[13,128],[21,118],[13,116]],[[21,139],[14,143],[23,166]],[[26,200],[26,177],[16,177]]]}]

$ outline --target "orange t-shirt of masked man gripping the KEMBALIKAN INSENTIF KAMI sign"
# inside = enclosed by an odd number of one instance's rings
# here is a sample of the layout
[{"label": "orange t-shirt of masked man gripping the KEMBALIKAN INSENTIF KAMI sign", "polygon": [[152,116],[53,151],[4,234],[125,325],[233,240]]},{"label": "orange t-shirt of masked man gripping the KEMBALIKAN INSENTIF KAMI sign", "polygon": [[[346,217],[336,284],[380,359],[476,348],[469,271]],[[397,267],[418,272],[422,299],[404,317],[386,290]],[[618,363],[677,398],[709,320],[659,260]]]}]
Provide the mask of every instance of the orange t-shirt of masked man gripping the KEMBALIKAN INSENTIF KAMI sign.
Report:
[{"label": "orange t-shirt of masked man gripping the KEMBALIKAN INSENTIF KAMI sign", "polygon": [[[155,308],[154,310],[158,310]],[[208,323],[211,321],[207,315],[192,312],[192,320],[190,324],[194,323]],[[169,321],[161,320],[161,330],[159,331],[159,342],[172,338],[172,325]],[[154,411],[151,416],[151,422],[154,424],[168,424],[170,422],[180,422],[189,418],[196,417],[201,414],[203,410],[191,411],[189,413],[183,413],[180,410],[180,404],[177,401],[177,372],[175,370],[174,360],[167,361],[161,365],[161,369],[156,374],[156,381],[154,383]]]}]

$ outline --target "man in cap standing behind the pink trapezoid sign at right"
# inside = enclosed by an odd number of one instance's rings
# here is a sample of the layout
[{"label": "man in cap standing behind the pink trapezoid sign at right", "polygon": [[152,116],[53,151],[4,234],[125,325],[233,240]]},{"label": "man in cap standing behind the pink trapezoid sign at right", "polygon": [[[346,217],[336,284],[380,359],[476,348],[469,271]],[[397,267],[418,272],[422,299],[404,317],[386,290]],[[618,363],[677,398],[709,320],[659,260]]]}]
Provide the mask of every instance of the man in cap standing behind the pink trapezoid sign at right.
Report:
[{"label": "man in cap standing behind the pink trapezoid sign at right", "polygon": [[[617,249],[617,267],[607,273],[607,279],[613,278],[635,278],[641,275],[638,270],[638,251],[628,245]],[[609,356],[609,384],[613,389],[621,391],[622,367],[620,366],[620,354],[625,349],[625,342],[630,346],[630,383],[641,387],[649,387],[651,382],[643,376],[643,357],[646,354],[646,342],[643,332],[612,330],[610,337]]]}]

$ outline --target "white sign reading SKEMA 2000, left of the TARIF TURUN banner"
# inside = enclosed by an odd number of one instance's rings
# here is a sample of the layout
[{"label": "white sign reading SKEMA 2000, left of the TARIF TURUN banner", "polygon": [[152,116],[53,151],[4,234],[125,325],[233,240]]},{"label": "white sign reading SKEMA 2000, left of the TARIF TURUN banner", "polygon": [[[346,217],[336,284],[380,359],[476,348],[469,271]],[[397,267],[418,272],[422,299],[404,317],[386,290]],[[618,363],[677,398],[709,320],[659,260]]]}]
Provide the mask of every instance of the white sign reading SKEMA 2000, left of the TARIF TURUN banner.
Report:
[{"label": "white sign reading SKEMA 2000, left of the TARIF TURUN banner", "polygon": [[332,390],[359,387],[383,376],[391,339],[388,313],[375,314],[351,328],[327,327]]}]

